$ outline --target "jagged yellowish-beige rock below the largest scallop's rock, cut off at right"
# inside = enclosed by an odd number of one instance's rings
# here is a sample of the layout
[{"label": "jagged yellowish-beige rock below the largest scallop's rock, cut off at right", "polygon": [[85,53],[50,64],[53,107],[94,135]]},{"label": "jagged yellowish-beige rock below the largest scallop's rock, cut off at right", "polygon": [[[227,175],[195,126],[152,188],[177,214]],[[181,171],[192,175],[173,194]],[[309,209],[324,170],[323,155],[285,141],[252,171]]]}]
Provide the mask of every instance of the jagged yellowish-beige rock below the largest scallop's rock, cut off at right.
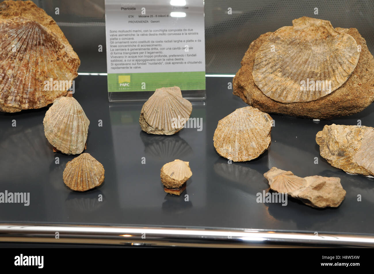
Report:
[{"label": "jagged yellowish-beige rock below the largest scallop's rock, cut off at right", "polygon": [[324,126],[317,133],[319,151],[329,164],[351,174],[374,175],[374,128]]}]

